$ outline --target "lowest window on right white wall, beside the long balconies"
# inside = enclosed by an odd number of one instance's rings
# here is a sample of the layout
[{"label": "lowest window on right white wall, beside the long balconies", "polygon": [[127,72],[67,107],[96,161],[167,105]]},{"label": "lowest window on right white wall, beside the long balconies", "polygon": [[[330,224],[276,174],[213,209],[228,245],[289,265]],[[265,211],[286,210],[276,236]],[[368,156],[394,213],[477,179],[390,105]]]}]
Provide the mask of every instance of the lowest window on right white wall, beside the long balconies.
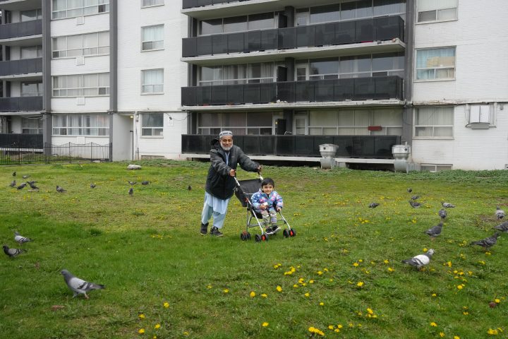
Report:
[{"label": "lowest window on right white wall, beside the long balconies", "polygon": [[421,107],[414,117],[414,138],[451,139],[454,136],[454,107]]}]

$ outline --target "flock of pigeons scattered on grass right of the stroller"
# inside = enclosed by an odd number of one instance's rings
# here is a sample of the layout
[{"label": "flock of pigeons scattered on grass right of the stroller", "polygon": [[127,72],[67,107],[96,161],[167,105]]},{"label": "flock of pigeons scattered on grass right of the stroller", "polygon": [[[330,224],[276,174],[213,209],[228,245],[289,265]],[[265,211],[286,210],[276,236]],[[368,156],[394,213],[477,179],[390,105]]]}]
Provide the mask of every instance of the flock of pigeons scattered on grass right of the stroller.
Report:
[{"label": "flock of pigeons scattered on grass right of the stroller", "polygon": [[[409,188],[409,189],[407,189],[407,191],[409,194],[411,194],[413,189]],[[422,206],[421,203],[419,203],[417,201],[418,198],[420,198],[420,196],[411,196],[411,200],[409,200],[409,205],[412,208],[420,208]],[[369,208],[376,208],[379,205],[380,205],[379,203],[373,202],[373,203],[370,203],[368,207]],[[438,212],[438,214],[441,218],[441,222],[424,232],[425,234],[428,234],[428,236],[430,237],[431,240],[434,240],[435,237],[440,236],[440,234],[442,232],[442,226],[443,226],[444,219],[447,218],[447,215],[448,215],[447,208],[454,208],[455,207],[452,203],[447,203],[444,201],[441,201],[441,206],[443,208],[441,208]],[[496,206],[495,216],[496,216],[497,220],[503,220],[503,218],[506,216],[506,213],[504,213],[504,210],[502,210],[499,206]],[[501,232],[508,232],[508,222],[502,222],[502,224],[497,225],[492,228],[494,228],[495,230],[499,230]],[[469,244],[482,246],[483,249],[487,250],[496,244],[497,238],[499,236],[500,236],[500,232],[495,232],[495,234],[493,234],[491,237],[487,237],[485,239],[471,242]],[[432,258],[434,252],[435,252],[434,249],[429,249],[424,254],[418,254],[417,256],[413,256],[413,258],[405,259],[401,262],[407,263],[408,265],[414,266],[414,267],[418,268],[418,270],[420,270],[421,268],[423,268],[423,266],[427,266],[430,263],[430,258]]]}]

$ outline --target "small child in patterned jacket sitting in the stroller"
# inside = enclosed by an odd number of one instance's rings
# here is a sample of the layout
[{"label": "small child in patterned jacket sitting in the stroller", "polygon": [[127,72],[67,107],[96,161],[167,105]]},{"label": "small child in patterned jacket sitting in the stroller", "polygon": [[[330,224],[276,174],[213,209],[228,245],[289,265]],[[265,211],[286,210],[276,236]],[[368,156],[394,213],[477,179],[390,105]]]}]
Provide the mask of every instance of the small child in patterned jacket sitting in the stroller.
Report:
[{"label": "small child in patterned jacket sitting in the stroller", "polygon": [[282,210],[284,201],[282,196],[274,191],[274,187],[273,179],[265,178],[261,182],[260,190],[250,198],[255,212],[262,215],[266,234],[275,234],[280,231],[280,227],[277,226],[277,212]]}]

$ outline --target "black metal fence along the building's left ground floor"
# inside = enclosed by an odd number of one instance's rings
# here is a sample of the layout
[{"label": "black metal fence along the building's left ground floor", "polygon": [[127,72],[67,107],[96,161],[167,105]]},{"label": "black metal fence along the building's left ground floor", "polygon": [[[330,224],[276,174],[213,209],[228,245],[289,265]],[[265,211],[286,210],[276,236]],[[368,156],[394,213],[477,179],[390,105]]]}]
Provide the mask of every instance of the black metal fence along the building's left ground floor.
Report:
[{"label": "black metal fence along the building's left ground floor", "polygon": [[0,147],[0,165],[48,164],[61,162],[109,161],[111,143],[44,143],[42,148],[26,148],[18,145]]}]

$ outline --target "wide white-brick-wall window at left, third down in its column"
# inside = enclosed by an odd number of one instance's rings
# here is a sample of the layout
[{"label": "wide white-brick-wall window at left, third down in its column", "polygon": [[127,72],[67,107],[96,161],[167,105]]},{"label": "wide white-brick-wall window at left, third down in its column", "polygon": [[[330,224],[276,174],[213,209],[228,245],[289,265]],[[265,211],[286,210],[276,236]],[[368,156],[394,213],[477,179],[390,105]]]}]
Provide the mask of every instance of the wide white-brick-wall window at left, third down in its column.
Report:
[{"label": "wide white-brick-wall window at left, third down in its column", "polygon": [[53,97],[109,95],[109,73],[53,76]]}]

